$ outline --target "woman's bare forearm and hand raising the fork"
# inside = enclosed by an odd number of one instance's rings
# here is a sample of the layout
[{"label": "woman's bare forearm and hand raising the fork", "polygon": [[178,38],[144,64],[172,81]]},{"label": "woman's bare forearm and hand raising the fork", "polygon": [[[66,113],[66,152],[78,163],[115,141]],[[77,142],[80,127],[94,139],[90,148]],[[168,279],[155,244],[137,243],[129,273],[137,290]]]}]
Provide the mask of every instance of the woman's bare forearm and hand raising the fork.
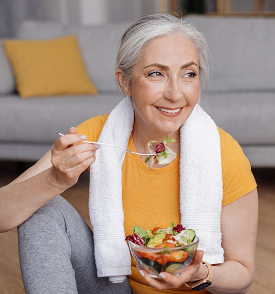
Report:
[{"label": "woman's bare forearm and hand raising the fork", "polygon": [[0,188],[0,232],[17,227],[77,182],[94,162],[97,149],[93,144],[77,144],[84,140],[76,129],[71,129],[35,165]]}]

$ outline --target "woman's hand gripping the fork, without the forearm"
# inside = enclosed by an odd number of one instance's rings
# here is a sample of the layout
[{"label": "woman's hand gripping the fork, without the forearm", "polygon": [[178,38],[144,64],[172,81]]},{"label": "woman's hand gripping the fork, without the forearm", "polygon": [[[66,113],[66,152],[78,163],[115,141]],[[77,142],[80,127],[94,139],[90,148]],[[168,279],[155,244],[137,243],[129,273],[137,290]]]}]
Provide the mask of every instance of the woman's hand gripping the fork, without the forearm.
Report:
[{"label": "woman's hand gripping the fork, without the forearm", "polygon": [[79,144],[85,135],[71,128],[67,135],[58,138],[52,146],[51,181],[58,188],[67,189],[74,185],[79,176],[95,161],[98,145]]}]

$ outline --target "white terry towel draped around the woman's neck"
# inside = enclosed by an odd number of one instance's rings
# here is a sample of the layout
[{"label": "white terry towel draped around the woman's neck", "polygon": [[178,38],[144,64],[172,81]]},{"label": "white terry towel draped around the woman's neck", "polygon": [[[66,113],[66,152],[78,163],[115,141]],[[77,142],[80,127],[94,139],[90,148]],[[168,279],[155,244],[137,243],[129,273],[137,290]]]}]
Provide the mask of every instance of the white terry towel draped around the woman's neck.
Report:
[{"label": "white terry towel draped around the woman's neck", "polygon": [[[132,101],[126,97],[111,111],[98,142],[127,148],[133,121]],[[122,149],[101,146],[90,166],[89,212],[97,275],[109,276],[112,282],[121,282],[131,274],[122,207],[124,157]],[[199,105],[181,128],[180,182],[182,225],[196,231],[205,261],[223,262],[220,135]]]}]

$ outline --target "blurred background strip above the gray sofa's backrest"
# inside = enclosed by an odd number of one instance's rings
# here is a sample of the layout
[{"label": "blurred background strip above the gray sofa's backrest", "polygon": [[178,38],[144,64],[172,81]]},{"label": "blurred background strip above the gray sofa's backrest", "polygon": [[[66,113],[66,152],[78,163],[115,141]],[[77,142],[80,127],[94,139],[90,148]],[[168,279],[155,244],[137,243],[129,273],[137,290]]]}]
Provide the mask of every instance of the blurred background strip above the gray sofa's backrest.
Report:
[{"label": "blurred background strip above the gray sofa's backrest", "polygon": [[24,19],[89,25],[132,21],[165,9],[176,13],[268,13],[275,11],[275,0],[0,0],[0,37],[15,37]]}]

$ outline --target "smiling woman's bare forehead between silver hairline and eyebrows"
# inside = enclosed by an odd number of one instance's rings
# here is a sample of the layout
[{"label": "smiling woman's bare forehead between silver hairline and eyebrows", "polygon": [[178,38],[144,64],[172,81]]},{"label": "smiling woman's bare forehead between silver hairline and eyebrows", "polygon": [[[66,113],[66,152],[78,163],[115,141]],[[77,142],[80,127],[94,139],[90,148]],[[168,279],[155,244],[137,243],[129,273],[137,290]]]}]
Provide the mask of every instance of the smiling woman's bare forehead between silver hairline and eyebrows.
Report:
[{"label": "smiling woman's bare forehead between silver hairline and eyebrows", "polygon": [[187,38],[179,35],[157,37],[143,50],[142,62],[173,62],[186,63],[191,60],[199,64],[197,50]]}]

